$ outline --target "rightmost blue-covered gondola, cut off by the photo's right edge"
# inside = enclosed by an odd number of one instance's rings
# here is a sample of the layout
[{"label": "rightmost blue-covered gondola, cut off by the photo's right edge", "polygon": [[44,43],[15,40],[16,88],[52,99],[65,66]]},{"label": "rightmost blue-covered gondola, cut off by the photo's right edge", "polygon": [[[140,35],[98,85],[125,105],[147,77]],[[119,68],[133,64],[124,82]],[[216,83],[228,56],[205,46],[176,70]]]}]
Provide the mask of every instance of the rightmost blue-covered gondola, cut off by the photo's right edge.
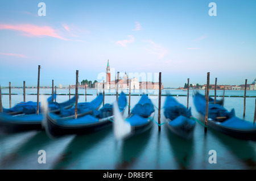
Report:
[{"label": "rightmost blue-covered gondola, cut off by the photo's right edge", "polygon": [[[206,101],[199,92],[194,96],[194,104],[197,112],[204,117]],[[256,141],[256,126],[249,121],[236,117],[234,108],[229,112],[220,104],[209,104],[207,124],[208,127],[229,136],[241,140]]]}]

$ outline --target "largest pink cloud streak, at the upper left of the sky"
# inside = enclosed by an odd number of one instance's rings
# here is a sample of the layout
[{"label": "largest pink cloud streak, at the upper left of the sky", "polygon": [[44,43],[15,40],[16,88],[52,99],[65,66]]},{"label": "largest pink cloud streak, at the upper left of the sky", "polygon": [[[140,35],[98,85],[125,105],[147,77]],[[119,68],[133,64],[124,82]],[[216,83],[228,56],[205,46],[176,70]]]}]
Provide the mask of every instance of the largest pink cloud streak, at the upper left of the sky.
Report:
[{"label": "largest pink cloud streak, at the upper left of the sky", "polygon": [[24,36],[50,36],[61,40],[68,40],[58,35],[56,30],[49,26],[36,26],[34,24],[0,24],[0,30],[13,30],[23,32]]}]

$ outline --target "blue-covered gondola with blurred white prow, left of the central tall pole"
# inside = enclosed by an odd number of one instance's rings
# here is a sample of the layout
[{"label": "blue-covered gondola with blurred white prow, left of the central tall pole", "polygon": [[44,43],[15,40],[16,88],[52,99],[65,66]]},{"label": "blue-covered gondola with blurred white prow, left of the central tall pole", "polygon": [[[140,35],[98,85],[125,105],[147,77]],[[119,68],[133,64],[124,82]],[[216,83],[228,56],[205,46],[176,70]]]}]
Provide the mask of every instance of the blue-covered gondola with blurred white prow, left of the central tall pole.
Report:
[{"label": "blue-covered gondola with blurred white prow, left of the central tall pole", "polygon": [[115,111],[115,136],[118,140],[127,140],[152,127],[155,109],[148,96],[143,94],[126,119],[123,119],[122,116],[118,116],[118,114],[119,112]]}]

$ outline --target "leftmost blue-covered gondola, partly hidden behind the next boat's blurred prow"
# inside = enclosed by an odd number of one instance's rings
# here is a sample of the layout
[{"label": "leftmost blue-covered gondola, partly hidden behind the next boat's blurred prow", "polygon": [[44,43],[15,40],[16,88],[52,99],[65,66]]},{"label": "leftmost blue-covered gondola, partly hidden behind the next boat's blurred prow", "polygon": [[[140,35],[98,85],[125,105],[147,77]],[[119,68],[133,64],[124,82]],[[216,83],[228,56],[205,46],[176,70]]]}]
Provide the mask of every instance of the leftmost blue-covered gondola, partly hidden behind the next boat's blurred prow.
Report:
[{"label": "leftmost blue-covered gondola, partly hidden behind the next boat's blurred prow", "polygon": [[[51,102],[52,99],[47,99],[47,108],[51,112],[59,113],[60,110],[65,110],[73,106],[76,97],[67,100],[63,103]],[[42,113],[42,104],[39,103],[39,114],[36,114],[37,105],[34,102],[24,103],[22,111],[14,115],[6,112],[0,112],[0,132],[4,134],[18,133],[24,131],[38,131],[42,130],[42,120],[44,119]]]}]

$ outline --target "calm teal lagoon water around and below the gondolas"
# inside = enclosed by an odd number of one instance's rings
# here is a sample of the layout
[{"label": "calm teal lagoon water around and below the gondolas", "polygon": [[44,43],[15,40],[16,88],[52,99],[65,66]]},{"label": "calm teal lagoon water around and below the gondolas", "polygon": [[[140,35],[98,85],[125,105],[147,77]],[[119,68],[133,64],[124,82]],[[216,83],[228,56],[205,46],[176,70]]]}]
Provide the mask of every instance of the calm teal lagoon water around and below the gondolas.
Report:
[{"label": "calm teal lagoon water around and below the gondolas", "polygon": [[[200,90],[204,94],[204,90]],[[8,94],[9,89],[3,89],[2,94]],[[23,90],[12,89],[12,106],[23,101]],[[75,90],[71,90],[74,94]],[[149,92],[158,94],[158,91]],[[176,99],[187,105],[186,91],[162,90],[162,94],[180,95]],[[36,94],[36,89],[27,89],[26,94]],[[40,94],[51,94],[51,89],[40,89]],[[68,94],[68,89],[57,89],[57,94]],[[79,90],[85,94],[85,90]],[[96,98],[96,90],[87,90],[87,101]],[[105,94],[114,94],[106,91]],[[139,94],[133,92],[132,94]],[[223,91],[217,91],[222,96]],[[244,91],[225,91],[225,95],[242,96]],[[158,96],[150,96],[158,107]],[[214,91],[210,91],[214,95]],[[248,96],[255,96],[256,91],[247,91]],[[40,95],[46,96],[49,95]],[[128,96],[127,96],[128,99]],[[138,102],[140,96],[131,96],[131,108]],[[162,107],[166,96],[162,96]],[[220,99],[220,98],[218,98]],[[36,95],[26,95],[27,101],[36,101]],[[57,95],[57,102],[68,100],[68,95]],[[106,95],[105,103],[112,103],[115,95]],[[3,107],[9,108],[9,95],[2,95]],[[85,102],[85,96],[79,96],[79,102]],[[193,105],[192,91],[189,92],[189,106],[193,116],[199,118]],[[235,109],[236,115],[243,118],[243,98],[225,97],[224,107]],[[255,98],[246,98],[245,120],[253,123]],[[125,115],[128,114],[128,108]],[[158,110],[155,113],[158,120]],[[164,122],[161,110],[161,122]],[[38,163],[38,151],[46,151],[46,163]],[[209,151],[216,150],[217,163],[210,164]],[[243,141],[218,133],[212,129],[204,133],[204,127],[197,123],[193,139],[185,141],[172,134],[166,125],[158,131],[158,125],[152,129],[125,142],[115,141],[112,128],[83,136],[65,136],[50,139],[44,131],[30,131],[0,136],[0,169],[75,169],[75,170],[178,170],[178,169],[256,169],[256,142]]]}]

